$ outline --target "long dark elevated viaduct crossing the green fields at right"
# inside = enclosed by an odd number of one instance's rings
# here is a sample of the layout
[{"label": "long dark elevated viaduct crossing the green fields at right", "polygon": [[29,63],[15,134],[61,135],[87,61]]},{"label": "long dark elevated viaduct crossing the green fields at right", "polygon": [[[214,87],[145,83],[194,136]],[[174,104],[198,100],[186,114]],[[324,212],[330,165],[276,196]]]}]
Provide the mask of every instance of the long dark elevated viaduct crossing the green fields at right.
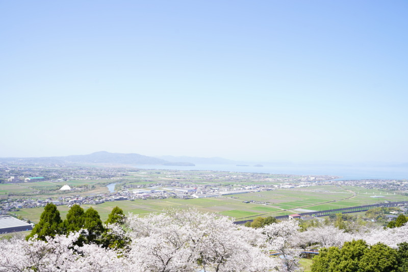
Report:
[{"label": "long dark elevated viaduct crossing the green fields at right", "polygon": [[[364,211],[368,211],[370,209],[377,208],[377,207],[396,207],[396,206],[404,206],[404,205],[407,205],[407,204],[408,204],[408,201],[388,202],[388,203],[370,204],[370,205],[355,206],[355,207],[333,209],[333,210],[304,212],[304,213],[298,213],[298,214],[300,216],[327,216],[327,215],[335,214],[335,213],[364,212]],[[277,220],[288,220],[289,215],[275,216],[275,218]],[[252,221],[253,221],[253,219],[241,220],[241,221],[235,221],[234,224],[243,225],[246,222],[252,222]]]}]

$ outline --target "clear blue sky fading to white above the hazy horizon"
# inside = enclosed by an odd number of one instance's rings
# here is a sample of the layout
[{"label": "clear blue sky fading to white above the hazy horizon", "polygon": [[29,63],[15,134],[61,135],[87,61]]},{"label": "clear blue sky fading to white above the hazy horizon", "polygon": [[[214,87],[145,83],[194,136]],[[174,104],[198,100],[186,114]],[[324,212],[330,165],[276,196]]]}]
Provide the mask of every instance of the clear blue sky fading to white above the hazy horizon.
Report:
[{"label": "clear blue sky fading to white above the hazy horizon", "polygon": [[0,157],[407,162],[406,1],[2,1]]}]

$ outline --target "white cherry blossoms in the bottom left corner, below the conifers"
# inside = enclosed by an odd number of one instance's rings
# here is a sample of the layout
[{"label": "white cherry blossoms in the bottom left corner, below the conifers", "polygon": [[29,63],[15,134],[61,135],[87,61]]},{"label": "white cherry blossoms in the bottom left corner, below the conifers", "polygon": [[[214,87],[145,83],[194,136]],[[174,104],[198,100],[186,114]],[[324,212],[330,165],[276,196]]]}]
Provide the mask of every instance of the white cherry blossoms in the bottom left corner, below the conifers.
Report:
[{"label": "white cherry blossoms in the bottom left corner, below the conifers", "polygon": [[79,232],[47,236],[46,241],[37,237],[0,242],[0,271],[118,271],[122,259],[117,252],[96,244],[74,245]]}]

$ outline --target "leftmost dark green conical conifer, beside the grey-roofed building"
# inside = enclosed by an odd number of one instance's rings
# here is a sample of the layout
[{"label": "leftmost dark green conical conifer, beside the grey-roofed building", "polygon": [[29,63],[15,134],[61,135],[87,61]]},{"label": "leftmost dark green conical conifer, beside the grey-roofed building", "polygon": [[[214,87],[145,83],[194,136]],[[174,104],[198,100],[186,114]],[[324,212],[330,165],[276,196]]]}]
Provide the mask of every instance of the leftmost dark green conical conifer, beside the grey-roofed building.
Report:
[{"label": "leftmost dark green conical conifer, beside the grey-roofed building", "polygon": [[44,211],[41,213],[40,221],[34,226],[31,233],[25,237],[25,239],[28,240],[37,234],[38,239],[45,241],[45,236],[54,237],[57,234],[62,234],[62,230],[62,220],[57,206],[52,203],[48,203],[44,207]]}]

